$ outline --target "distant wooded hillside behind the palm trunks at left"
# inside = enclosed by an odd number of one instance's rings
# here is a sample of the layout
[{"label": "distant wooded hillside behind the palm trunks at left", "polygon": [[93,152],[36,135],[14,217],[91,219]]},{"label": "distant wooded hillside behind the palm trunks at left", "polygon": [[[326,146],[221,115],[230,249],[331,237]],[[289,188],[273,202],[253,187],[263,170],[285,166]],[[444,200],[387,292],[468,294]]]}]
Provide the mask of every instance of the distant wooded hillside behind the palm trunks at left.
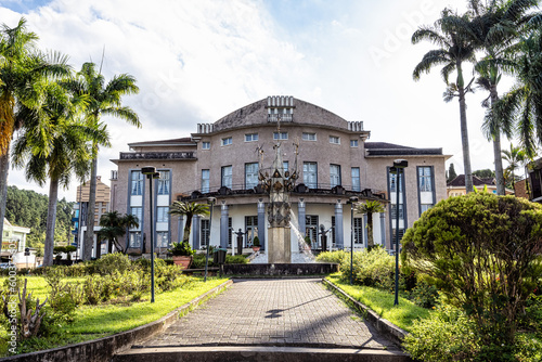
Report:
[{"label": "distant wooded hillside behind the palm trunks at left", "polygon": [[[31,190],[18,190],[8,186],[5,218],[18,227],[30,228],[28,246],[43,248],[47,227],[47,206],[49,197]],[[54,230],[55,244],[72,243],[72,215],[74,203],[65,198],[56,206],[56,225]]]}]

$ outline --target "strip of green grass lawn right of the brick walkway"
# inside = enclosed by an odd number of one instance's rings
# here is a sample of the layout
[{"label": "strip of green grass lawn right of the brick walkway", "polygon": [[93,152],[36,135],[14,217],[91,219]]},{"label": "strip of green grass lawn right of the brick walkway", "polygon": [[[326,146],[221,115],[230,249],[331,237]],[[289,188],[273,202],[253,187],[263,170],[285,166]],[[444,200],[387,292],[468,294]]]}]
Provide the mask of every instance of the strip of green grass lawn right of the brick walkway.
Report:
[{"label": "strip of green grass lawn right of the brick walkway", "polygon": [[369,286],[350,285],[348,281],[340,280],[340,273],[331,274],[326,279],[356,300],[371,308],[380,318],[406,332],[410,332],[413,321],[429,316],[428,309],[418,307],[405,298],[399,297],[399,306],[393,306],[395,295],[391,293]]}]

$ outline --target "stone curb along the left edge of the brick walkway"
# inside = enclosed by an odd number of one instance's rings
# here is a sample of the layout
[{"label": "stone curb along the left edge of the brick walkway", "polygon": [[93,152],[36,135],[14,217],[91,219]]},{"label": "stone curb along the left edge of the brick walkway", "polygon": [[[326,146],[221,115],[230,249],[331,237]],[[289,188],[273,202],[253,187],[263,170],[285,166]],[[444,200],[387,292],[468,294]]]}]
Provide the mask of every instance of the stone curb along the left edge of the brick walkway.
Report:
[{"label": "stone curb along the left edge of the brick walkway", "polygon": [[47,349],[42,351],[36,351],[31,353],[16,354],[8,358],[2,358],[0,361],[17,361],[17,362],[51,362],[51,361],[63,361],[63,362],[104,362],[109,361],[116,353],[127,350],[138,340],[142,340],[152,337],[156,333],[165,331],[170,326],[179,315],[183,315],[197,306],[199,306],[205,300],[215,297],[216,295],[223,292],[233,283],[229,280],[219,286],[214,287],[209,292],[201,295],[197,298],[192,299],[188,303],[177,308],[176,310],[169,312],[165,316],[160,318],[155,322],[139,326],[137,328],[117,333],[107,337],[93,339],[89,341],[83,341],[80,344],[68,345],[64,347],[57,347],[52,349]]}]

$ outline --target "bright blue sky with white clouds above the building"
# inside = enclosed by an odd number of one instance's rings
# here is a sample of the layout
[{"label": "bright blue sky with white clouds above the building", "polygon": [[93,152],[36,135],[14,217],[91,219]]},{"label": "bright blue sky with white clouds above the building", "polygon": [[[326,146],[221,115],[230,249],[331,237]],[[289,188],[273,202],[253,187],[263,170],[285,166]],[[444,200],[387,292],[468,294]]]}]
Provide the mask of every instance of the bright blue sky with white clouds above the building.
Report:
[{"label": "bright blue sky with white clouds above the building", "polygon": [[[463,172],[457,101],[444,103],[439,68],[412,78],[434,49],[410,41],[453,0],[0,0],[0,23],[24,16],[42,50],[69,56],[79,70],[100,64],[106,80],[136,77],[140,93],[124,99],[142,128],[103,118],[112,147],[101,148],[98,174],[109,183],[111,159],[128,143],[189,137],[199,122],[214,122],[268,95],[293,95],[346,120],[363,120],[369,141],[442,147]],[[465,78],[472,76],[466,66]],[[500,92],[512,80],[502,81]],[[473,170],[493,169],[491,143],[481,131],[487,96],[467,96]],[[503,140],[503,148],[509,142]],[[506,165],[505,165],[506,166]],[[60,197],[75,201],[78,181]],[[11,170],[9,184],[47,194]]]}]

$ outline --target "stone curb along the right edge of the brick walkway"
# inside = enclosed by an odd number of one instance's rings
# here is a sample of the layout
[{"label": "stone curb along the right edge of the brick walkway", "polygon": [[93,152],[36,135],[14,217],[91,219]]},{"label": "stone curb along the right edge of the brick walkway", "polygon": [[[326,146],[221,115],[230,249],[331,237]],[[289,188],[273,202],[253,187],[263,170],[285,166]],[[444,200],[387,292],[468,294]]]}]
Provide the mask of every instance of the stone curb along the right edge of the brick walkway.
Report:
[{"label": "stone curb along the right edge of the brick walkway", "polygon": [[353,308],[363,314],[363,318],[367,320],[378,332],[380,332],[386,338],[391,340],[397,346],[401,347],[403,338],[409,334],[406,331],[401,329],[397,325],[390,323],[387,320],[382,319],[367,306],[359,302],[358,300],[350,297],[341,288],[333,284],[332,282],[323,279],[324,285],[330,288],[333,293],[337,294],[339,297],[347,299]]}]

